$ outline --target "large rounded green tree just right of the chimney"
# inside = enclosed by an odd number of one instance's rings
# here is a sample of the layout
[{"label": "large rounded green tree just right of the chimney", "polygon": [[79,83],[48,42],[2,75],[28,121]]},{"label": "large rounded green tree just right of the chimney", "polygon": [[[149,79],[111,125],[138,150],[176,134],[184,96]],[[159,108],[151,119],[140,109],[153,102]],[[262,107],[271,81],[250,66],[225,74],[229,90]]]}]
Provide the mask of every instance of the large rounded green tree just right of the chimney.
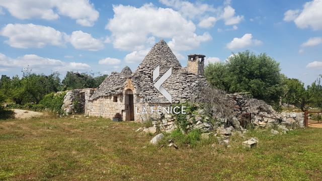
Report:
[{"label": "large rounded green tree just right of the chimney", "polygon": [[249,92],[269,104],[278,103],[282,95],[279,63],[265,53],[239,52],[225,64],[207,65],[205,71],[212,86],[230,93]]}]

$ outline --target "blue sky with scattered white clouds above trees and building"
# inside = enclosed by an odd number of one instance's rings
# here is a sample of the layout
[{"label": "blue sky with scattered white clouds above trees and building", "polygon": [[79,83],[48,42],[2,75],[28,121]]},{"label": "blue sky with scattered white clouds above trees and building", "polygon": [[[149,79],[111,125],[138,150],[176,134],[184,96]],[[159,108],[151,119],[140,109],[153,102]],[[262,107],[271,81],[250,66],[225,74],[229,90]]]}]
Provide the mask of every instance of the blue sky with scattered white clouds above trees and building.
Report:
[{"label": "blue sky with scattered white clouds above trees and building", "polygon": [[0,74],[135,70],[160,39],[225,61],[265,52],[305,84],[322,74],[322,1],[0,0]]}]

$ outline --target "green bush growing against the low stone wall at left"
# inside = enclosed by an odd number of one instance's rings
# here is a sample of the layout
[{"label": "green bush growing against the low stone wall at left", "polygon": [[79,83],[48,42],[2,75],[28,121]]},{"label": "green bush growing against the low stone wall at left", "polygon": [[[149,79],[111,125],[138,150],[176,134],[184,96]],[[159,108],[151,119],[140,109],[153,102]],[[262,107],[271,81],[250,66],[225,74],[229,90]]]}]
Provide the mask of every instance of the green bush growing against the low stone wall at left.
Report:
[{"label": "green bush growing against the low stone wall at left", "polygon": [[64,97],[66,95],[66,92],[62,93],[50,93],[44,96],[44,98],[40,101],[40,104],[44,105],[45,108],[62,115],[63,110],[61,109],[61,106],[63,105]]}]

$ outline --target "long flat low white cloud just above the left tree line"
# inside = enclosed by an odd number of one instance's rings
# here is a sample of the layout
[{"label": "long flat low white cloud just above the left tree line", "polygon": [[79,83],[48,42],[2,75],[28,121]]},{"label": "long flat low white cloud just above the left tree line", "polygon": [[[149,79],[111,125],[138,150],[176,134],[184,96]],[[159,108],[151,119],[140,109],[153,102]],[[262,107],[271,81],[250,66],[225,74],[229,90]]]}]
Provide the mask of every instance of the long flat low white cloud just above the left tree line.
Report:
[{"label": "long flat low white cloud just above the left tree line", "polygon": [[17,58],[8,57],[0,53],[0,68],[19,68],[29,65],[31,68],[52,68],[53,70],[88,70],[90,65],[78,62],[63,62],[57,59],[40,57],[34,54],[27,54]]}]

